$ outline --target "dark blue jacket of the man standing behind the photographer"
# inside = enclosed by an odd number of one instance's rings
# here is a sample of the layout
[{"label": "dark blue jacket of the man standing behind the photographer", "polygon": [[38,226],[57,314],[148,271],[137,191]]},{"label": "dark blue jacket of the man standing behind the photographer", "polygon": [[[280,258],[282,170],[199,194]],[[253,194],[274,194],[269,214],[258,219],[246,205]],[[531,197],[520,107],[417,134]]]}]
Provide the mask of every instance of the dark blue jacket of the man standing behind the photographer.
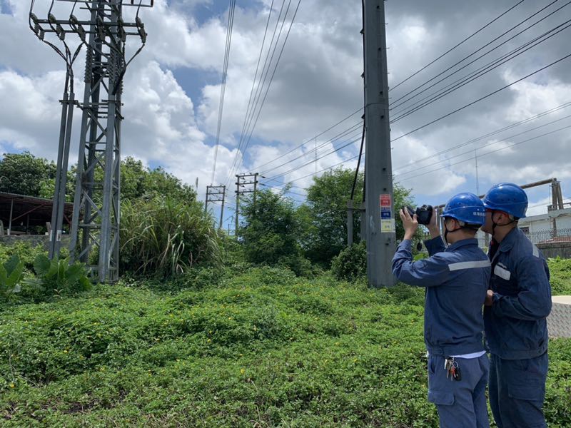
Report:
[{"label": "dark blue jacket of the man standing behind the photographer", "polygon": [[547,351],[551,312],[549,268],[540,250],[518,228],[495,251],[491,307],[484,308],[487,347],[506,360],[534,358]]}]

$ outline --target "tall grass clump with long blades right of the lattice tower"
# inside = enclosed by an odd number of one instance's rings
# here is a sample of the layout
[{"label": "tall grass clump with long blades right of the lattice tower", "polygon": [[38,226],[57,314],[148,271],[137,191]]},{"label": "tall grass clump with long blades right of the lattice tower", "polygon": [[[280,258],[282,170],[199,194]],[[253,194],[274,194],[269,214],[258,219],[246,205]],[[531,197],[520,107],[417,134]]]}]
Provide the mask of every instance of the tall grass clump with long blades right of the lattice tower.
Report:
[{"label": "tall grass clump with long blades right of the lattice tower", "polygon": [[162,276],[221,264],[220,238],[196,202],[156,197],[121,202],[121,266]]}]

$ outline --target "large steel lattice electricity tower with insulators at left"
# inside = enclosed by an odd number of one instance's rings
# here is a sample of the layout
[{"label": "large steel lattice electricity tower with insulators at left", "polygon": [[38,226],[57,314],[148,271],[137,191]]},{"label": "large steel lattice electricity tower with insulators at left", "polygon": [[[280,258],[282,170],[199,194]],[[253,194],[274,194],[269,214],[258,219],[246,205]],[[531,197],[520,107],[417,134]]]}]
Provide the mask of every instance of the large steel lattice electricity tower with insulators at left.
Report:
[{"label": "large steel lattice electricity tower with insulators at left", "polygon": [[[52,14],[54,2],[71,3],[66,19]],[[146,44],[146,31],[138,17],[141,7],[152,7],[153,0],[51,0],[47,19],[34,14],[30,7],[30,28],[41,41],[54,48],[66,61],[67,77],[62,101],[56,192],[52,213],[50,256],[57,258],[61,245],[61,230],[66,192],[66,173],[73,116],[73,63],[81,46],[86,46],[84,101],[79,137],[74,215],[71,220],[70,253],[97,272],[98,279],[111,282],[118,279],[119,264],[119,167],[121,163],[121,93],[123,76],[133,58]],[[79,6],[79,8],[78,8]],[[133,22],[123,20],[123,6],[136,6]],[[74,12],[81,11],[82,19]],[[84,18],[84,19],[83,19]],[[63,54],[46,40],[55,34],[64,44]],[[66,35],[79,36],[80,45],[71,54]],[[138,36],[141,46],[126,59],[127,36]],[[98,261],[91,262],[92,249],[98,250]]]}]

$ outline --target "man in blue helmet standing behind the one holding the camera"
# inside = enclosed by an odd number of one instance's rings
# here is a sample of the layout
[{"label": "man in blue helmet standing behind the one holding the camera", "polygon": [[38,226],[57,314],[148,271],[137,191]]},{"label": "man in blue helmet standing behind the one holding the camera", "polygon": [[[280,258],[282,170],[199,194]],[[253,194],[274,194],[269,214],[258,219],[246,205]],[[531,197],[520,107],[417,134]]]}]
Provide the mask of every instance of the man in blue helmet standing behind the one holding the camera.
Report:
[{"label": "man in blue helmet standing behind the one holding the camera", "polygon": [[540,250],[517,228],[527,195],[500,183],[485,195],[492,234],[492,277],[484,322],[490,349],[490,407],[499,428],[547,427],[542,412],[547,377],[547,321],[551,310],[549,270]]}]

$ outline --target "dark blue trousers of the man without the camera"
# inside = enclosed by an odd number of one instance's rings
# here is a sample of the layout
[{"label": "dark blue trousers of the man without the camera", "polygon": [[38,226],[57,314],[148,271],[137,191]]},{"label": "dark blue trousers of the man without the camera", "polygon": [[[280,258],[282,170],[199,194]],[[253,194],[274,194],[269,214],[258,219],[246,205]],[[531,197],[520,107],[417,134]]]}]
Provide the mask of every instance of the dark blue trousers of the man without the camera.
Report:
[{"label": "dark blue trousers of the man without the camera", "polygon": [[490,355],[490,407],[498,428],[543,428],[547,352],[525,360]]}]

